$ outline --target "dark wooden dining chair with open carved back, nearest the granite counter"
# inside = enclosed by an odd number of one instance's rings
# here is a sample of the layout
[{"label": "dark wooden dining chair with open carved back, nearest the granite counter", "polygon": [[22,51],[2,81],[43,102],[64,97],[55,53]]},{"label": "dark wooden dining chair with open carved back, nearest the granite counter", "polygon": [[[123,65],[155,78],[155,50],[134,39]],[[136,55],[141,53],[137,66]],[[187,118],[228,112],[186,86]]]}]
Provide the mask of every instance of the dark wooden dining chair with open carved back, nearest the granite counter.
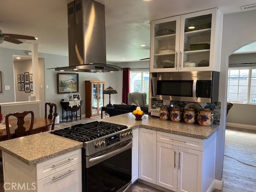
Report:
[{"label": "dark wooden dining chair with open carved back, nearest the granite counter", "polygon": [[5,117],[5,125],[6,125],[6,133],[7,133],[7,139],[11,139],[11,133],[10,133],[10,126],[9,126],[9,117],[14,116],[18,119],[17,125],[18,127],[14,131],[14,135],[16,138],[26,136],[26,128],[24,127],[25,121],[24,118],[31,114],[31,122],[30,122],[30,128],[28,134],[32,134],[32,129],[34,125],[34,113],[32,111],[25,111],[23,113],[11,113],[7,114]]}]

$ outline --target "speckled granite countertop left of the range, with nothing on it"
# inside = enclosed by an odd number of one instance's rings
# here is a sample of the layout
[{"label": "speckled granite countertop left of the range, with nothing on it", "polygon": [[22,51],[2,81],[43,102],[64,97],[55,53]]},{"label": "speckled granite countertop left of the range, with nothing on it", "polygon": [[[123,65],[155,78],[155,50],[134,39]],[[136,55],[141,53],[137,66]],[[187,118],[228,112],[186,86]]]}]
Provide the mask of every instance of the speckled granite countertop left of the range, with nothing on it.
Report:
[{"label": "speckled granite countertop left of the range, with nothing on it", "polygon": [[0,142],[0,150],[33,165],[83,147],[82,142],[42,132]]}]

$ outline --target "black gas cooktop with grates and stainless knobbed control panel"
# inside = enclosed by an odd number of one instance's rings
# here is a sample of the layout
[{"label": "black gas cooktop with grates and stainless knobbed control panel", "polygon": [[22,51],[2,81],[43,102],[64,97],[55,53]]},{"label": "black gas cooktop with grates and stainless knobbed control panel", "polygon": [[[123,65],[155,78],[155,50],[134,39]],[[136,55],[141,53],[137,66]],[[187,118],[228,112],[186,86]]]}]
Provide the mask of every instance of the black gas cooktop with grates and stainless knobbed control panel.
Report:
[{"label": "black gas cooktop with grates and stainless knobbed control panel", "polygon": [[86,156],[98,153],[130,140],[132,129],[124,125],[108,122],[89,122],[68,128],[54,130],[52,134],[84,143]]}]

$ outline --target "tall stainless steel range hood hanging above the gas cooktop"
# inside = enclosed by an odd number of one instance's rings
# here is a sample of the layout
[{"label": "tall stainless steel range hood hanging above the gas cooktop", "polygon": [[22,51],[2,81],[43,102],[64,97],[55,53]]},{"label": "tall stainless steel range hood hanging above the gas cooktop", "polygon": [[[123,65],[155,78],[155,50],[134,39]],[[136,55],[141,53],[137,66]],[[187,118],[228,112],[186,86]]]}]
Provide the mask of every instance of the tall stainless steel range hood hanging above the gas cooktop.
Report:
[{"label": "tall stainless steel range hood hanging above the gas cooktop", "polygon": [[94,0],[68,4],[69,66],[56,71],[112,72],[122,70],[106,64],[105,6]]}]

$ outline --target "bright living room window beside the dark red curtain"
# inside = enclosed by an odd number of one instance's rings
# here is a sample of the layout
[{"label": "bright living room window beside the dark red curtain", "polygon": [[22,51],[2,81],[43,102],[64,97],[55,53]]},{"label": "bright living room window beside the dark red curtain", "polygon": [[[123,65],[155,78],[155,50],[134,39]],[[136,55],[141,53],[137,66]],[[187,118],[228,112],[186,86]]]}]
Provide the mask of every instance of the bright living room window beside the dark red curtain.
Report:
[{"label": "bright living room window beside the dark red curtain", "polygon": [[149,97],[149,71],[130,71],[130,92],[140,92]]}]

